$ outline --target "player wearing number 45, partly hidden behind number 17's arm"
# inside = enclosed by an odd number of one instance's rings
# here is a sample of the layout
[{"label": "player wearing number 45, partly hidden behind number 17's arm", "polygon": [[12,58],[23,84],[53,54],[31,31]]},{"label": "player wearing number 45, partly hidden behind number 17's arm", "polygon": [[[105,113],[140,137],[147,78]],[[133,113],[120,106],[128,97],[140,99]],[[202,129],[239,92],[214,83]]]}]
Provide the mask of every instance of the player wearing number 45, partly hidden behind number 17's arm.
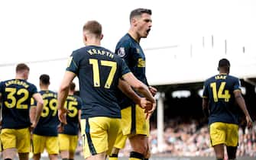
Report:
[{"label": "player wearing number 45, partly hidden behind number 17's arm", "polygon": [[75,93],[76,84],[70,84],[69,95],[66,98],[65,107],[69,110],[66,114],[66,125],[63,131],[59,133],[60,156],[63,160],[73,160],[78,142],[79,123],[81,119],[81,107],[83,105],[81,98]]}]

